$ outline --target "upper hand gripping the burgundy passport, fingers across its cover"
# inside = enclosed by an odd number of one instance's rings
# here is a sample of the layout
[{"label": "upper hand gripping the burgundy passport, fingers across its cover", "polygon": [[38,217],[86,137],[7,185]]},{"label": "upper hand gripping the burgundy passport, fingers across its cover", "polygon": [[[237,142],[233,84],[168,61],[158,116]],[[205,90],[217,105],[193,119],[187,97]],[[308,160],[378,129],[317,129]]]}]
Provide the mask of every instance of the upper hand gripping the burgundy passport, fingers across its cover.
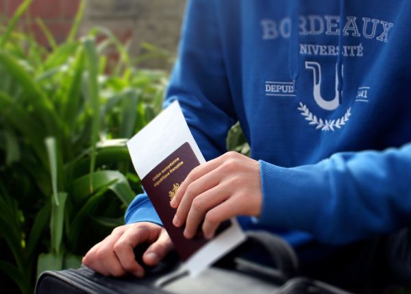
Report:
[{"label": "upper hand gripping the burgundy passport, fingers across its cover", "polygon": [[237,152],[193,169],[171,201],[177,208],[173,224],[186,223],[186,238],[195,236],[203,220],[203,234],[212,238],[222,221],[238,215],[258,217],[261,206],[260,164]]}]

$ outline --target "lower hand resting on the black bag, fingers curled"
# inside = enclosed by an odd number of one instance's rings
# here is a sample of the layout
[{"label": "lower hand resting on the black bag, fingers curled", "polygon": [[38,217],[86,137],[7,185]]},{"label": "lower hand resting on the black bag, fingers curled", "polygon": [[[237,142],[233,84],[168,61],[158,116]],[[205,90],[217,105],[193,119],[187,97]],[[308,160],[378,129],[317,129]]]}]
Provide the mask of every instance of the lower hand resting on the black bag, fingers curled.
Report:
[{"label": "lower hand resting on the black bag, fingers curled", "polygon": [[141,278],[144,269],[136,261],[133,249],[147,242],[151,245],[142,260],[149,266],[157,265],[173,247],[169,234],[160,225],[147,222],[121,225],[87,252],[83,264],[103,275],[119,277],[132,273]]}]

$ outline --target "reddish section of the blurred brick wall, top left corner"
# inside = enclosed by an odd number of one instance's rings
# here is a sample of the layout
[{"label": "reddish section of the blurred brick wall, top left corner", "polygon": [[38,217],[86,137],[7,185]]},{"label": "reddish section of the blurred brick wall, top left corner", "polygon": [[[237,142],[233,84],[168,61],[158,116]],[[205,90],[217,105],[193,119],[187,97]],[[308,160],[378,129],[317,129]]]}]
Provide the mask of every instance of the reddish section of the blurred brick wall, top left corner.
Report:
[{"label": "reddish section of the blurred brick wall, top left corner", "polygon": [[[10,19],[22,2],[23,0],[0,0],[1,17]],[[80,0],[33,0],[29,12],[19,25],[26,32],[32,32],[42,45],[48,46],[45,34],[36,23],[36,18],[42,19],[55,41],[62,42],[69,35],[79,2]]]}]

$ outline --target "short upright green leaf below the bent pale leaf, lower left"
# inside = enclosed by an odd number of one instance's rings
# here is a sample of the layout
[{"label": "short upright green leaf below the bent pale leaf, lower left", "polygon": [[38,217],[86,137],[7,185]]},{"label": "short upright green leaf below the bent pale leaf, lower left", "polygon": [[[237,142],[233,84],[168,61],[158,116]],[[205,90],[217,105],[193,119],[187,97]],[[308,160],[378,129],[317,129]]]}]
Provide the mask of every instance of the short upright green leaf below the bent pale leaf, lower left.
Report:
[{"label": "short upright green leaf below the bent pale leaf, lower left", "polygon": [[64,208],[66,206],[67,193],[58,193],[57,195],[59,204],[56,204],[54,198],[51,198],[51,251],[56,254],[60,254],[64,225]]}]

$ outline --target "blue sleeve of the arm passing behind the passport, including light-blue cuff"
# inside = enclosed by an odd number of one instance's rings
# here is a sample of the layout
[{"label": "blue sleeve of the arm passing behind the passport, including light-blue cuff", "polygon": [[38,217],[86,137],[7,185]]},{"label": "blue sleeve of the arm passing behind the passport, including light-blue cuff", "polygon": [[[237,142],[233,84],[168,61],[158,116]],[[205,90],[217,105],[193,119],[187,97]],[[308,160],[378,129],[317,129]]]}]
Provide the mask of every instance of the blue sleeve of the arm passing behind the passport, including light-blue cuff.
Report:
[{"label": "blue sleeve of the arm passing behind the passport, including light-blue cuff", "polygon": [[[186,7],[179,54],[163,107],[177,99],[188,127],[206,160],[227,151],[225,139],[236,122],[214,1],[191,0]],[[127,208],[126,223],[160,223],[146,194]]]}]

